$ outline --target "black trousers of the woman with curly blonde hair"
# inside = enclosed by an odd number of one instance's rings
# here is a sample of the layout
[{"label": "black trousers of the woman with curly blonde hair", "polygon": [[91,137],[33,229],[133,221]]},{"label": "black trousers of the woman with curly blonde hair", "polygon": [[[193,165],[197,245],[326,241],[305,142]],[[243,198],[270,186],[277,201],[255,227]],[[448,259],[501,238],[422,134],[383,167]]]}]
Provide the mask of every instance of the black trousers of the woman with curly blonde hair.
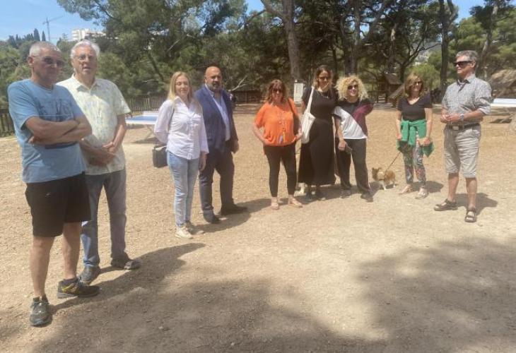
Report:
[{"label": "black trousers of the woman with curly blonde hair", "polygon": [[365,164],[365,150],[367,147],[367,139],[360,138],[358,140],[347,140],[346,143],[353,149],[351,155],[341,151],[338,148],[339,139],[335,138],[335,153],[337,160],[337,168],[341,177],[342,189],[351,189],[349,182],[349,169],[351,167],[351,159],[353,158],[353,167],[355,167],[356,186],[360,192],[369,192],[368,166]]}]

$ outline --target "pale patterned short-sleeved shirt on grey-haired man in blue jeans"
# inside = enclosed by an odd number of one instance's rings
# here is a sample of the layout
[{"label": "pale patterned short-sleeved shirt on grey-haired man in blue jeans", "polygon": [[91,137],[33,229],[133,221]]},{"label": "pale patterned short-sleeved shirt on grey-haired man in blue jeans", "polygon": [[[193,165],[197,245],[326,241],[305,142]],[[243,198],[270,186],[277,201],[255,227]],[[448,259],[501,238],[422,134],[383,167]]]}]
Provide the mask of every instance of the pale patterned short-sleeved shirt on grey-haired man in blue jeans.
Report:
[{"label": "pale patterned short-sleeved shirt on grey-haired man in blue jeans", "polygon": [[[78,106],[88,118],[92,133],[86,140],[93,147],[102,147],[115,138],[118,115],[129,114],[131,109],[115,83],[102,78],[95,78],[91,88],[80,83],[74,76],[57,83],[67,88],[74,96]],[[86,161],[86,174],[99,175],[117,172],[125,168],[125,156],[122,145],[119,146],[115,158],[106,165],[89,163],[90,156],[83,150]]]}]

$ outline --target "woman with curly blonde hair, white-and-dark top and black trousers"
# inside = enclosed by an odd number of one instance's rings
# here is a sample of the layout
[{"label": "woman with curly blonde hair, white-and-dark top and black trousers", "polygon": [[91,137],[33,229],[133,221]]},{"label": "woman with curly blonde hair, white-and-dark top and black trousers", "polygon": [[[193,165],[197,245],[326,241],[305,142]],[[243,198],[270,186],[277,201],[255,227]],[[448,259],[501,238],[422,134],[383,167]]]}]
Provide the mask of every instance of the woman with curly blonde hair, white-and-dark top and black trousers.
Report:
[{"label": "woman with curly blonde hair, white-and-dark top and black trousers", "polygon": [[365,164],[365,152],[368,139],[368,126],[365,116],[373,110],[368,100],[368,92],[358,76],[341,78],[336,84],[339,101],[334,109],[336,138],[335,152],[337,169],[341,177],[341,197],[351,196],[349,170],[351,160],[355,167],[355,179],[360,197],[372,202],[373,196],[368,178],[368,167]]}]

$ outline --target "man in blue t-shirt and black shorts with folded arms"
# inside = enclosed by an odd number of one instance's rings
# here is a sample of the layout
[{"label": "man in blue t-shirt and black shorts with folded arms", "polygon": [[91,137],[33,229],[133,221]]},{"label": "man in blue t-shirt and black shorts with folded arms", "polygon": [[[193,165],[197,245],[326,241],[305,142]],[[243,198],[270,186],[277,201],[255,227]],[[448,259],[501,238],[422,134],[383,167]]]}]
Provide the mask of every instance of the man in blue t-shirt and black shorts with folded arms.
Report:
[{"label": "man in blue t-shirt and black shorts with folded arms", "polygon": [[30,324],[41,326],[52,320],[45,281],[55,237],[64,238],[64,280],[57,297],[92,297],[99,292],[76,277],[81,222],[90,219],[85,164],[77,141],[88,136],[91,127],[69,91],[54,85],[64,66],[60,50],[49,42],[36,42],[27,61],[30,79],[12,83],[7,92],[33,217]]}]

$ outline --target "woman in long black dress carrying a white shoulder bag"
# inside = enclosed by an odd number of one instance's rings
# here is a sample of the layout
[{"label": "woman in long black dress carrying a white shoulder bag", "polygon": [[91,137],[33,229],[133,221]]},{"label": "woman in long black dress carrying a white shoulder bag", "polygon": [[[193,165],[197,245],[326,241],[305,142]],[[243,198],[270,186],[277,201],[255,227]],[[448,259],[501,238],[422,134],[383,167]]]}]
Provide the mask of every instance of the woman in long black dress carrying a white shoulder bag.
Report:
[{"label": "woman in long black dress carrying a white shoulder bag", "polygon": [[[301,112],[305,112],[310,95],[310,113],[315,120],[310,128],[309,142],[301,145],[298,175],[298,181],[307,184],[307,201],[324,199],[320,186],[335,184],[332,112],[337,95],[332,88],[332,70],[328,66],[321,65],[315,71],[312,87],[303,93]],[[312,185],[315,185],[315,195],[312,195]]]}]

